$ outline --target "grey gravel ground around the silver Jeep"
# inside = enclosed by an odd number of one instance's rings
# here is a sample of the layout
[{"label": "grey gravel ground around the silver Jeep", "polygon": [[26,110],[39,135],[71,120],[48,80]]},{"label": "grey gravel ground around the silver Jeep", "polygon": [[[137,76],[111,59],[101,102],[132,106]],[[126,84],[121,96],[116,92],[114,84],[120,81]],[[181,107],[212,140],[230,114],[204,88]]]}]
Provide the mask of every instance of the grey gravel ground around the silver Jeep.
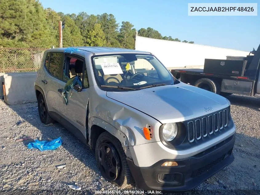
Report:
[{"label": "grey gravel ground around the silver Jeep", "polygon": [[[228,99],[237,127],[235,160],[196,189],[182,194],[260,194],[260,99],[242,95]],[[19,120],[25,122],[17,125]],[[94,152],[86,145],[58,123],[41,123],[36,103],[8,106],[1,100],[0,129],[0,194],[94,194],[95,190],[121,190],[124,194],[123,189],[101,177]],[[60,136],[63,144],[54,151],[40,152],[26,148],[30,140],[15,141],[22,136],[39,140]],[[56,168],[63,164],[65,168]],[[67,184],[81,190],[74,191]],[[137,187],[133,185],[132,189]]]}]

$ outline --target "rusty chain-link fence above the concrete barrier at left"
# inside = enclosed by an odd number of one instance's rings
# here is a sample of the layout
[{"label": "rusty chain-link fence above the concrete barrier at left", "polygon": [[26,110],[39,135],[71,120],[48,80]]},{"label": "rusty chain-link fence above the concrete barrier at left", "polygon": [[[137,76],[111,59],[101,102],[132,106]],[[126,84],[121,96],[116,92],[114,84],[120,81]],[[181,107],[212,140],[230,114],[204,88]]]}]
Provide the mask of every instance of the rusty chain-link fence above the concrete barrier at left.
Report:
[{"label": "rusty chain-link fence above the concrete barrier at left", "polygon": [[40,67],[46,48],[0,48],[0,72],[31,72]]}]

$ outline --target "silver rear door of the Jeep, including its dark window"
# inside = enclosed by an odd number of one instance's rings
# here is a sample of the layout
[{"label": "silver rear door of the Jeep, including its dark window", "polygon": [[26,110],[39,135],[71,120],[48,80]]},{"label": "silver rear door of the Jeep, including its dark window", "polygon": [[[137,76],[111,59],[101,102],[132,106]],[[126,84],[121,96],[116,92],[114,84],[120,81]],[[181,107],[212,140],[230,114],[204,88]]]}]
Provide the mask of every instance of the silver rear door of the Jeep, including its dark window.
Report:
[{"label": "silver rear door of the Jeep, including its dark window", "polygon": [[61,79],[60,73],[63,67],[64,54],[51,52],[48,55],[50,55],[49,61],[47,61],[48,66],[46,67],[48,74],[46,74],[46,82],[44,84],[46,104],[50,112],[58,112],[58,82]]}]

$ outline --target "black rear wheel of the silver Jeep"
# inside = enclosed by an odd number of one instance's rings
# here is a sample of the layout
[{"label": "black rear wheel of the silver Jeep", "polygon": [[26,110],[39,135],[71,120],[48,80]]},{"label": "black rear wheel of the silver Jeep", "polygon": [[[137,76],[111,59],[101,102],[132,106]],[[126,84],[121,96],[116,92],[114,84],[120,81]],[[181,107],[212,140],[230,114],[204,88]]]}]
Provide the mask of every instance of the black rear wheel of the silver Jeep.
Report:
[{"label": "black rear wheel of the silver Jeep", "polygon": [[38,97],[38,112],[42,123],[50,124],[54,122],[54,120],[50,118],[49,111],[42,94]]}]

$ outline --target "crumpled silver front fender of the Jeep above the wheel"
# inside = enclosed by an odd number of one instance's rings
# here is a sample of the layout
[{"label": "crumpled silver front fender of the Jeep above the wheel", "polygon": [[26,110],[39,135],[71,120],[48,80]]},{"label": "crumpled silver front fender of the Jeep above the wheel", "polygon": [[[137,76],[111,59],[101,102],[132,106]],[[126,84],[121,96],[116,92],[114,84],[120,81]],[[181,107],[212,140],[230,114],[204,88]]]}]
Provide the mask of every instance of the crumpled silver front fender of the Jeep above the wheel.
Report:
[{"label": "crumpled silver front fender of the Jeep above the wheel", "polygon": [[[97,85],[90,86],[89,95],[89,144],[92,125],[98,125],[116,136],[122,147],[160,141],[159,127],[162,124],[158,120],[107,97],[106,91],[100,90]],[[143,134],[147,124],[153,128],[151,140],[146,140]]]}]

